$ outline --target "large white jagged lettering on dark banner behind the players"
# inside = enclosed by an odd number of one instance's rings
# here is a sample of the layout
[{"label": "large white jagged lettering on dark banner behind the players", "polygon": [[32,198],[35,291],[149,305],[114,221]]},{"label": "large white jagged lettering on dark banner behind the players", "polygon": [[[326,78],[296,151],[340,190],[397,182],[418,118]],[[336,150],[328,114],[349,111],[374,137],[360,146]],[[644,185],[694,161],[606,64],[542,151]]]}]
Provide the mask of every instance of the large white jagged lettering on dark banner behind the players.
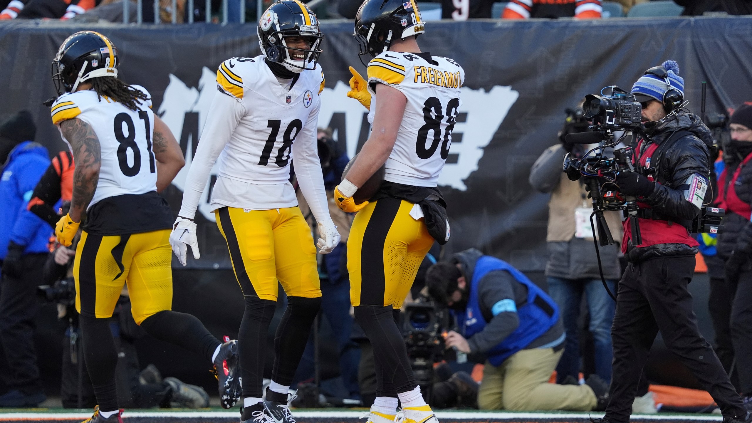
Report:
[{"label": "large white jagged lettering on dark banner behind the players", "polygon": [[[214,93],[217,93],[217,75],[209,68],[203,68],[198,88],[186,86],[174,75],[169,78],[170,82],[165,88],[157,114],[170,128],[185,153],[186,166],[180,169],[172,181],[178,189],[183,190],[199,134],[211,108]],[[359,146],[368,139],[371,129],[367,119],[368,111],[357,100],[347,97],[348,90],[350,87],[343,81],[337,81],[333,89],[324,88],[318,126],[332,126],[333,138],[338,142],[344,141],[347,155],[353,157]],[[467,190],[464,180],[478,169],[484,148],[491,142],[520,93],[511,87],[502,86],[493,87],[488,92],[468,87],[462,87],[461,90],[462,106],[452,132],[449,158],[438,184],[464,191]],[[199,212],[209,221],[215,221],[214,213],[210,212],[209,199],[211,182],[216,175],[215,163],[199,202]]]}]

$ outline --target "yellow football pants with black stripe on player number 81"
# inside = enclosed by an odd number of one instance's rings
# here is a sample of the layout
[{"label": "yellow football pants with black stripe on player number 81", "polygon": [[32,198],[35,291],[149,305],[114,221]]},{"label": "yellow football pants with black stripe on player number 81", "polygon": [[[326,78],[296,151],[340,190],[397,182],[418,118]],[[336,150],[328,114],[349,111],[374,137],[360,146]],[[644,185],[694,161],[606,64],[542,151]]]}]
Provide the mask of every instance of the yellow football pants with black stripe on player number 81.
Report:
[{"label": "yellow football pants with black stripe on player number 81", "polygon": [[83,231],[76,248],[73,276],[76,310],[91,318],[109,318],[123,284],[128,284],[137,324],[172,308],[170,230],[102,236]]}]

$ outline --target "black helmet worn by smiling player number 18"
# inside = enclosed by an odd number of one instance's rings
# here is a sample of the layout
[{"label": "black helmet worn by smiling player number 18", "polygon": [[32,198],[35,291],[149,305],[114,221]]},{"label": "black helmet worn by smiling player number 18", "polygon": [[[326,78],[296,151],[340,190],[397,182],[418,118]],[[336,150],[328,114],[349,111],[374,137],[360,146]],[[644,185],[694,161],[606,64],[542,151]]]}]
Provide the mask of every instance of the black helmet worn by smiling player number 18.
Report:
[{"label": "black helmet worn by smiling player number 18", "polygon": [[[298,0],[274,3],[261,15],[258,32],[261,51],[269,62],[281,63],[287,70],[296,73],[316,68],[323,35],[319,30],[319,20],[308,6]],[[290,36],[307,38],[311,47],[287,47],[284,38]],[[290,50],[302,52],[305,57],[296,60],[290,56]]]}]

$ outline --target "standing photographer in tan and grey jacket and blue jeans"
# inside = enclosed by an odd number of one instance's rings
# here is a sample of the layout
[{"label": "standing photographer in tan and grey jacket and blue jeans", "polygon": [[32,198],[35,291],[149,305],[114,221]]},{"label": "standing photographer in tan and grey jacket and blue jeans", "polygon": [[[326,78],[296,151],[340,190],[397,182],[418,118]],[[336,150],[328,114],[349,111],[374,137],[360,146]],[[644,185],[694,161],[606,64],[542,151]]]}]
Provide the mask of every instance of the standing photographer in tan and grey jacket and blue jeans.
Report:
[{"label": "standing photographer in tan and grey jacket and blue jeans", "polygon": [[[566,135],[587,130],[582,108],[567,109],[564,128],[559,132],[559,143],[547,148],[530,169],[530,184],[541,193],[551,193],[548,202],[548,263],[546,276],[548,291],[562,313],[566,330],[566,348],[556,367],[556,382],[576,383],[580,373],[581,342],[578,336],[580,304],[587,303],[590,315],[588,329],[593,334],[595,373],[606,383],[611,382],[611,323],[614,321],[614,300],[603,288],[598,257],[590,229],[593,205],[587,198],[585,184],[570,181],[562,172],[562,160],[571,153],[574,157],[585,154],[584,145],[569,144]],[[605,212],[608,227],[614,239],[621,239],[622,225],[619,212]],[[600,248],[601,262],[608,289],[615,292],[615,281],[621,276],[619,246]]]}]

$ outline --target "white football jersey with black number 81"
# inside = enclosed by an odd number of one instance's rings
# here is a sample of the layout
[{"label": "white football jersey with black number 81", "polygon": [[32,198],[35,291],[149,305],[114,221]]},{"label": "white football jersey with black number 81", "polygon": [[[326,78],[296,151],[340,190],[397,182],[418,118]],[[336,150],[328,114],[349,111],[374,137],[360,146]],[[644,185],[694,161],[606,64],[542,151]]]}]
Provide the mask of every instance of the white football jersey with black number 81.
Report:
[{"label": "white football jersey with black number 81", "polygon": [[[105,96],[99,98],[92,90],[65,93],[53,103],[54,124],[76,117],[88,123],[99,138],[102,165],[89,208],[111,196],[156,191],[156,160],[151,145],[154,132],[151,96],[144,87],[131,87],[148,97],[136,102],[138,110],[135,111]],[[62,131],[60,135],[71,148]]]}]

